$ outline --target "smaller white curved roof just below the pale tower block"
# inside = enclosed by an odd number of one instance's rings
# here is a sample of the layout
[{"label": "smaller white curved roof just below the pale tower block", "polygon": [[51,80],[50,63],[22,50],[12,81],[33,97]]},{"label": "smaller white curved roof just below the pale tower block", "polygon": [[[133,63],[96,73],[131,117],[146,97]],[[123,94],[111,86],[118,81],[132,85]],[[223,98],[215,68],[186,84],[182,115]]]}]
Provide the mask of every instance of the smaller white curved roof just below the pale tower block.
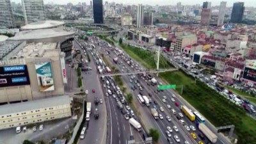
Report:
[{"label": "smaller white curved roof just below the pale tower block", "polygon": [[56,21],[56,20],[44,20],[33,22],[26,26],[22,26],[22,30],[29,30],[29,29],[46,29],[46,28],[55,28],[58,26],[62,26],[65,22]]}]

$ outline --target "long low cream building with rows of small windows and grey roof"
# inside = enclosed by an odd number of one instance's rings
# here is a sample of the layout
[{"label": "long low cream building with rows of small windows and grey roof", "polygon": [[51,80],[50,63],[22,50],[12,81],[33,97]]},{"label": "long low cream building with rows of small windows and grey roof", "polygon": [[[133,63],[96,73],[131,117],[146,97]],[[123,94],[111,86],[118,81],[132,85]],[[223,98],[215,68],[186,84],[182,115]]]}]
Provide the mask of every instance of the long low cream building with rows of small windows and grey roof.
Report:
[{"label": "long low cream building with rows of small windows and grey roof", "polygon": [[0,106],[0,129],[35,124],[71,116],[68,95]]}]

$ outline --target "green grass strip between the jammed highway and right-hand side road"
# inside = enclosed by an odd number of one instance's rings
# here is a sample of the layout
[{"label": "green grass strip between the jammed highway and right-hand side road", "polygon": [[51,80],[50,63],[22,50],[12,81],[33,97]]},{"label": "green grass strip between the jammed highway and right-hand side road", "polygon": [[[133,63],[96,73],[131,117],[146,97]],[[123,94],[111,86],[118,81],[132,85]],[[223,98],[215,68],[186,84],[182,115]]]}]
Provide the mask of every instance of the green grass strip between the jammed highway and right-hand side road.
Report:
[{"label": "green grass strip between the jammed highway and right-hand side road", "polygon": [[[154,54],[135,47],[121,45],[129,56],[147,68],[154,68]],[[138,49],[138,50],[135,50]],[[153,60],[148,60],[152,58]],[[162,63],[165,63],[164,61]],[[182,71],[163,72],[160,76],[170,84],[183,85],[182,97],[202,113],[216,127],[235,125],[238,143],[256,143],[256,122],[246,115],[243,108],[225,99],[201,81],[195,81]],[[177,92],[180,92],[177,90]]]}]

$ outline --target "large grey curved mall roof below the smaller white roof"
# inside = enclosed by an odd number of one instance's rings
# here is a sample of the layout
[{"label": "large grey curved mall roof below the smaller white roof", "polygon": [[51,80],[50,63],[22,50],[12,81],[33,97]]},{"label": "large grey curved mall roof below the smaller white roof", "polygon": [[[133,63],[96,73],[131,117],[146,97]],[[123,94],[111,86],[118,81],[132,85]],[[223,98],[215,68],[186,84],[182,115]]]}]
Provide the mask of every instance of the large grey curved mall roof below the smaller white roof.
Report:
[{"label": "large grey curved mall roof below the smaller white roof", "polygon": [[74,35],[73,31],[65,31],[63,29],[35,29],[28,31],[20,31],[15,36],[8,38],[8,40],[35,40],[43,38],[54,38],[58,36],[70,36]]}]

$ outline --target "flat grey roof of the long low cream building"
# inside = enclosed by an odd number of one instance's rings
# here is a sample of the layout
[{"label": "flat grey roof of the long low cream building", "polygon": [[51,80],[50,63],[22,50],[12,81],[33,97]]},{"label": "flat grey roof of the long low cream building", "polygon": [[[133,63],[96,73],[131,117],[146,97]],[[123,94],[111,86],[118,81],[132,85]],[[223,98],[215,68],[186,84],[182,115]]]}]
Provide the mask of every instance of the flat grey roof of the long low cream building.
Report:
[{"label": "flat grey roof of the long low cream building", "polygon": [[31,111],[33,109],[49,108],[52,106],[60,106],[70,104],[71,99],[68,95],[56,96],[47,99],[32,100],[28,102],[20,102],[16,104],[6,104],[0,106],[0,115],[10,113],[19,113],[22,111]]}]

